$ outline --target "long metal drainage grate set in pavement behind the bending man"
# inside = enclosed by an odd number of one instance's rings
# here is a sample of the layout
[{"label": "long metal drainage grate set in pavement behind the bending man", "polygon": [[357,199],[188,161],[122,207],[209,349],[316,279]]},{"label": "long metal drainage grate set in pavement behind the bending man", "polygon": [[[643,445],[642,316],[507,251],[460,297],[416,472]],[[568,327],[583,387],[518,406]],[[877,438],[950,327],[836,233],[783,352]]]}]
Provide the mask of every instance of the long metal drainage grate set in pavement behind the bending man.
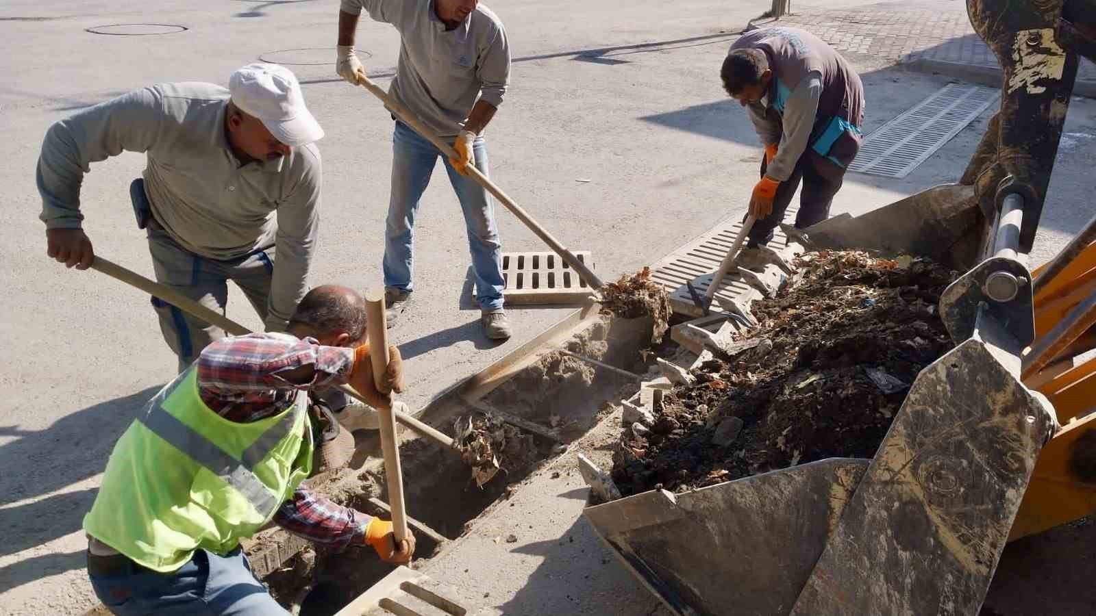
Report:
[{"label": "long metal drainage grate set in pavement behind the bending man", "polygon": [[905,178],[1000,96],[992,88],[949,83],[865,137],[848,170]]}]

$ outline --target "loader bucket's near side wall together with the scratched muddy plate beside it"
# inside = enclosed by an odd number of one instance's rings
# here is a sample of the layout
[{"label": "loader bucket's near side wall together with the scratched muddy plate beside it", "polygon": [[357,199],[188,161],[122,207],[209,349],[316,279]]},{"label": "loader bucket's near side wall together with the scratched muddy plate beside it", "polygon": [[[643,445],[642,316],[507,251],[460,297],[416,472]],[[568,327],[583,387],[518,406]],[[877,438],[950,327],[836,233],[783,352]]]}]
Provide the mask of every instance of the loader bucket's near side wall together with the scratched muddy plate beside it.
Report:
[{"label": "loader bucket's near side wall together with the scratched muddy plate beside it", "polygon": [[587,507],[681,615],[977,614],[1052,423],[972,338],[922,370],[871,460]]}]

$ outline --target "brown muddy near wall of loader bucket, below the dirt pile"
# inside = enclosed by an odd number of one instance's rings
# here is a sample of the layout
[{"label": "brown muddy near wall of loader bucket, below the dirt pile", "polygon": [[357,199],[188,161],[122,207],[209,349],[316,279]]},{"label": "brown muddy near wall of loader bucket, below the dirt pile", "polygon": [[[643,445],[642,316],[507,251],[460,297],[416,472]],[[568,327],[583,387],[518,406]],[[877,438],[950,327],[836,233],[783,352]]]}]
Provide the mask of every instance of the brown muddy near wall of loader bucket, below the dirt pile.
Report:
[{"label": "brown muddy near wall of loader bucket, below the dirt pile", "polygon": [[675,614],[787,614],[866,467],[831,458],[584,515]]}]

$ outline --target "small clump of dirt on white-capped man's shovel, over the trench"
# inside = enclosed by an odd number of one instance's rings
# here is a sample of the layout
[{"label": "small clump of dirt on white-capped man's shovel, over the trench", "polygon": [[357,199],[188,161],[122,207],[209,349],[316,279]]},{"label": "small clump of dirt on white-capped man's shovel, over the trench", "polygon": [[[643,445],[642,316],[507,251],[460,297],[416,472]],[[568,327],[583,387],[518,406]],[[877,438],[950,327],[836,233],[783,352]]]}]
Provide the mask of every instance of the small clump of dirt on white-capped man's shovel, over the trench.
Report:
[{"label": "small clump of dirt on white-capped man's shovel, over the trench", "polygon": [[471,468],[477,488],[500,470],[520,470],[543,457],[532,434],[491,413],[458,417],[453,431],[453,447]]}]

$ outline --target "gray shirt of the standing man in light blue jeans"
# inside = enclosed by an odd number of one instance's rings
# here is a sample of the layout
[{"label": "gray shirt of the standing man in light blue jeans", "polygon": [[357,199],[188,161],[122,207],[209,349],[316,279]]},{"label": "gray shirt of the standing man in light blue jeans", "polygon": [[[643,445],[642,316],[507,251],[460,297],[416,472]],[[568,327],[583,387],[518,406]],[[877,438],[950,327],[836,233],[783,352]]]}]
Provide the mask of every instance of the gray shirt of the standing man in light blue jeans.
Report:
[{"label": "gray shirt of the standing man in light blue jeans", "polygon": [[433,0],[342,0],[344,13],[396,26],[400,59],[389,94],[441,137],[465,126],[477,100],[498,107],[510,83],[510,46],[502,21],[482,3],[454,30]]}]

